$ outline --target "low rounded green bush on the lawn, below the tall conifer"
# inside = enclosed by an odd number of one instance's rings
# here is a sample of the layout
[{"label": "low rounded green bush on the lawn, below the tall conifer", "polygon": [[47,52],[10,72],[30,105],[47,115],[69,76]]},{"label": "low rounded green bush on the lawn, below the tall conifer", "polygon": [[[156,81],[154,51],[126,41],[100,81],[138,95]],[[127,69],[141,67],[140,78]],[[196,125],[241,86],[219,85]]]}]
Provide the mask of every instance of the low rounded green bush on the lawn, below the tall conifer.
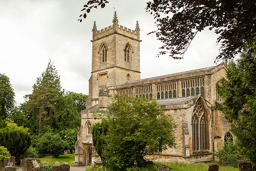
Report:
[{"label": "low rounded green bush on the lawn, below the tall conifer", "polygon": [[67,150],[67,143],[61,139],[61,136],[54,133],[45,133],[38,141],[37,151],[39,156],[43,157],[47,154],[58,157]]}]

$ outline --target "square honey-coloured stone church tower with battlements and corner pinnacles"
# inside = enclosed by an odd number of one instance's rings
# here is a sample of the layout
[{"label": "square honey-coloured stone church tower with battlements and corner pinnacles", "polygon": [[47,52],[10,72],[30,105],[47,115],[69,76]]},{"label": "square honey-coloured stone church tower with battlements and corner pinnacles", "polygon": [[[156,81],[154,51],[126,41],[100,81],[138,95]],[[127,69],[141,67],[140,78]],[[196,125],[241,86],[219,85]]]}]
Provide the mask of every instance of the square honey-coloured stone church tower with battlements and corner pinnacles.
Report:
[{"label": "square honey-coloured stone church tower with battlements and corner pinnacles", "polygon": [[[135,30],[118,24],[114,12],[113,24],[97,30],[93,24],[92,74],[89,79],[87,108],[102,104],[102,95],[111,87],[140,80],[140,28]],[[105,105],[103,105],[105,106]]]}]

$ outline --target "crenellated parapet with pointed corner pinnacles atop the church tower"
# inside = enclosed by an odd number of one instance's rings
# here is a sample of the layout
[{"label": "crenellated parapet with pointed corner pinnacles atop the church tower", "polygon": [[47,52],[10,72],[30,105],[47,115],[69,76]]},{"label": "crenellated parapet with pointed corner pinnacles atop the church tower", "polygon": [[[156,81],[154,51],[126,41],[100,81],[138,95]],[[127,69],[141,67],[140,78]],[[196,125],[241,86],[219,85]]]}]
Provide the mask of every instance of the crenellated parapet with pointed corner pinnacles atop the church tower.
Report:
[{"label": "crenellated parapet with pointed corner pinnacles atop the church tower", "polygon": [[116,12],[114,13],[114,17],[113,17],[113,24],[111,26],[105,27],[104,29],[97,30],[96,22],[94,21],[94,24],[93,24],[93,40],[92,41],[96,41],[100,38],[104,38],[108,35],[112,35],[112,34],[115,34],[115,33],[126,36],[126,37],[129,37],[129,38],[132,38],[132,39],[135,39],[137,41],[140,41],[140,28],[139,28],[138,21],[136,23],[135,30],[132,30],[132,29],[129,29],[129,28],[124,27],[122,25],[119,25]]}]

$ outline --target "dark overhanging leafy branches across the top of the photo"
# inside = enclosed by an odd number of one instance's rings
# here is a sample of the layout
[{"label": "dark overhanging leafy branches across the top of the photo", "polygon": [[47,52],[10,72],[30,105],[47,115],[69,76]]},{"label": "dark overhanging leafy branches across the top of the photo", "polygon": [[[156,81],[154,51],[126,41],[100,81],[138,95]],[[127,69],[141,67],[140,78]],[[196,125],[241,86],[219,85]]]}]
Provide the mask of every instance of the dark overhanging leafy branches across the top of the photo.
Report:
[{"label": "dark overhanging leafy branches across the top of the photo", "polygon": [[[88,0],[79,21],[86,18],[91,9],[104,8],[106,3],[108,0]],[[153,14],[158,27],[153,32],[164,44],[157,56],[169,53],[172,58],[183,58],[195,35],[206,28],[215,29],[220,35],[217,61],[233,58],[245,43],[256,40],[255,0],[154,0],[149,1],[145,9]]]}]

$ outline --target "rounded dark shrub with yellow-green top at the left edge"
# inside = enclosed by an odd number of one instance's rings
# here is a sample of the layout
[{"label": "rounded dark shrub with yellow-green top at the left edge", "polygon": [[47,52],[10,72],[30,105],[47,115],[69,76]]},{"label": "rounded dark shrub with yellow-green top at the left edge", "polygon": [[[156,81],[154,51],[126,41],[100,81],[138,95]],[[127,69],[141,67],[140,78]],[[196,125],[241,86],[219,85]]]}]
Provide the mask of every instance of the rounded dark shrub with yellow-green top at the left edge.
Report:
[{"label": "rounded dark shrub with yellow-green top at the left edge", "polygon": [[20,161],[30,144],[31,138],[25,128],[8,122],[5,128],[0,129],[0,146],[6,147],[16,161]]}]

